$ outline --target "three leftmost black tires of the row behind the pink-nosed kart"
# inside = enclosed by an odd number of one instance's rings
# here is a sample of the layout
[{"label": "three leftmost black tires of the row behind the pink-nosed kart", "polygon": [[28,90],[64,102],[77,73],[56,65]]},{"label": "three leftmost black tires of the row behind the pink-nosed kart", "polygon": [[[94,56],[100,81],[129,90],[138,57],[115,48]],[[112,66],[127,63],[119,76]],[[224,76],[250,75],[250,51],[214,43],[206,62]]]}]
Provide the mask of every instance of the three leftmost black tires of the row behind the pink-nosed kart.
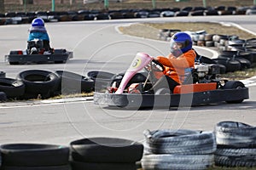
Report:
[{"label": "three leftmost black tires of the row behind the pink-nosed kart", "polygon": [[60,94],[92,92],[95,81],[69,71],[21,71],[16,78],[0,77],[0,100],[48,99]]}]

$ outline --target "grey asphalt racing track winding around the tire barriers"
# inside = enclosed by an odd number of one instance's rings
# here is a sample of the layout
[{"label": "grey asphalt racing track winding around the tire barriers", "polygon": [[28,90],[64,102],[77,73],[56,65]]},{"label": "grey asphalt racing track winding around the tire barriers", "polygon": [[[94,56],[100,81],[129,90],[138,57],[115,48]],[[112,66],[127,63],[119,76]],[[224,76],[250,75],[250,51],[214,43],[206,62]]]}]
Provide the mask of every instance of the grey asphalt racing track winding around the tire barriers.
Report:
[{"label": "grey asphalt racing track winding around the tire barriers", "polygon": [[[53,48],[67,48],[74,58],[58,65],[9,65],[4,55],[26,48],[29,25],[0,27],[0,71],[16,77],[20,71],[65,70],[85,75],[88,71],[125,71],[137,52],[152,56],[168,53],[168,43],[119,34],[116,26],[136,22],[209,21],[236,24],[256,32],[256,15],[176,17],[143,20],[104,20],[47,23]],[[198,49],[211,57],[212,53]],[[108,136],[141,141],[145,129],[189,128],[212,131],[221,121],[256,125],[256,86],[241,104],[202,105],[153,110],[120,110],[94,105],[91,99],[62,99],[0,104],[0,144],[38,142],[69,144],[73,139]]]}]

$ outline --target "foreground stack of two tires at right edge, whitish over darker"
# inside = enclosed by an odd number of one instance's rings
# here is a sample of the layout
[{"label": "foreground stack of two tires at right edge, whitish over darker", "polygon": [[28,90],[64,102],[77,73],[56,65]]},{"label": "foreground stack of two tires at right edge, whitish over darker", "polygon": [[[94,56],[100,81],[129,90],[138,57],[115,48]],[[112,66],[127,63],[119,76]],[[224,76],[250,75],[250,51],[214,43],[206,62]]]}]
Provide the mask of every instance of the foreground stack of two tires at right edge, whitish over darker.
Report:
[{"label": "foreground stack of two tires at right edge, whitish over darker", "polygon": [[215,165],[256,167],[256,127],[242,122],[218,122],[215,134]]}]

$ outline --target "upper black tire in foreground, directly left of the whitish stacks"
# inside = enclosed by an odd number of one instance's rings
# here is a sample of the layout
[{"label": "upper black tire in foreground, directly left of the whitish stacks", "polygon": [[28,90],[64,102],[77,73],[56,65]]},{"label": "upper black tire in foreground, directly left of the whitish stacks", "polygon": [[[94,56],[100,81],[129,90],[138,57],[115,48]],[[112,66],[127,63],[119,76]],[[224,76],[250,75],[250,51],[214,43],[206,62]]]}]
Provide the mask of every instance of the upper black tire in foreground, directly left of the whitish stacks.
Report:
[{"label": "upper black tire in foreground, directly left of the whitish stacks", "polygon": [[79,139],[70,144],[74,161],[131,163],[141,160],[143,144],[117,138]]}]

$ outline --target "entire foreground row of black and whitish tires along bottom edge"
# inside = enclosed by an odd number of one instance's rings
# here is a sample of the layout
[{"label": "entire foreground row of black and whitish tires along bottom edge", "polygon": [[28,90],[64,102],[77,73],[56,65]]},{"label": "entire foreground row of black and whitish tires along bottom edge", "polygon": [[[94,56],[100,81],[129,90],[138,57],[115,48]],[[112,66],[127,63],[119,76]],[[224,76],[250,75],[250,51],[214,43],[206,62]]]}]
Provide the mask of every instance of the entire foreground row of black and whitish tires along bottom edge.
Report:
[{"label": "entire foreground row of black and whitish tires along bottom edge", "polygon": [[[136,170],[256,166],[256,127],[218,122],[213,132],[144,131],[144,142],[95,137],[56,144],[2,144],[1,169]],[[1,163],[0,163],[1,164]]]}]

